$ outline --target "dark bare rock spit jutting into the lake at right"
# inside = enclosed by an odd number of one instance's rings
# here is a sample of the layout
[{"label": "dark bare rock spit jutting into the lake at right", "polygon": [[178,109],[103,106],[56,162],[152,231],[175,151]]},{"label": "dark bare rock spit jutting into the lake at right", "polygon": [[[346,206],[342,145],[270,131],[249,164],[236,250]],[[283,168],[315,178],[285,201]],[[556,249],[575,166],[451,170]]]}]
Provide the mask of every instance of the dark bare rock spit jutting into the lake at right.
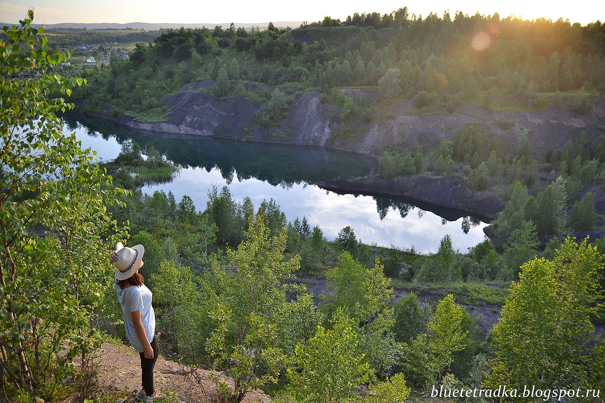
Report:
[{"label": "dark bare rock spit jutting into the lake at right", "polygon": [[378,176],[367,179],[331,179],[318,186],[336,193],[357,195],[388,195],[421,201],[437,207],[464,211],[489,221],[502,210],[502,201],[491,193],[469,189],[460,176],[420,175],[408,178],[385,180]]}]

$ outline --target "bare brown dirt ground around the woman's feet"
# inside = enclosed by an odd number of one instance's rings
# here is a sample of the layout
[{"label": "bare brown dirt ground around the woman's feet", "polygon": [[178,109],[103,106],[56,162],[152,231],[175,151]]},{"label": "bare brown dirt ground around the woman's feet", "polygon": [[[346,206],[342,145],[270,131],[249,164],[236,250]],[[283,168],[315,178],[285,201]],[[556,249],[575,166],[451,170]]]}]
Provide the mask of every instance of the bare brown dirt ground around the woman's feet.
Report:
[{"label": "bare brown dirt ground around the woman's feet", "polygon": [[[134,402],[141,384],[139,353],[130,346],[115,343],[103,344],[103,350],[98,377],[100,393],[116,396],[120,403]],[[208,371],[192,371],[162,356],[155,363],[155,387],[167,402],[216,402],[214,382],[208,375]],[[245,403],[270,401],[261,391],[249,393],[244,399]]]}]

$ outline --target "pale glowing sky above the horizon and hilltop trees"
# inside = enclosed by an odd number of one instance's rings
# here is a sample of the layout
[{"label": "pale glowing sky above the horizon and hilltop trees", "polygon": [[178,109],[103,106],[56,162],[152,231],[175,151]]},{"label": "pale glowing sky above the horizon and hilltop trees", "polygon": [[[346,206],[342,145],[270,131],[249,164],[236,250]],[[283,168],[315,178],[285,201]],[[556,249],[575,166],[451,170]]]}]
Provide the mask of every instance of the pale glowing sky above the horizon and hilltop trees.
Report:
[{"label": "pale glowing sky above the horizon and hilltop trees", "polygon": [[28,8],[34,9],[34,23],[58,24],[61,22],[154,22],[172,24],[223,24],[229,22],[255,24],[278,21],[319,21],[324,16],[344,21],[353,13],[390,13],[397,8],[408,7],[410,16],[426,17],[434,12],[439,16],[450,10],[474,15],[499,13],[500,18],[509,15],[522,19],[546,18],[556,21],[569,19],[573,24],[586,25],[597,20],[605,22],[605,1],[577,0],[574,2],[551,0],[425,0],[405,2],[394,0],[376,1],[250,1],[231,0],[0,0],[0,22],[16,23],[23,19]]}]

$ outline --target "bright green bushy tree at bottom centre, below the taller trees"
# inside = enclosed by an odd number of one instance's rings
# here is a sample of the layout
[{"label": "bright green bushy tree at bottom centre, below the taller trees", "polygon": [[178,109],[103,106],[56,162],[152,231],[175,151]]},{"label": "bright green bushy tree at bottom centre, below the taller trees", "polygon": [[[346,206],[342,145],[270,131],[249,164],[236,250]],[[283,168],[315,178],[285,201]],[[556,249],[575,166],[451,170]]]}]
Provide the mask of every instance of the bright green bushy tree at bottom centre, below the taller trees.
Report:
[{"label": "bright green bushy tree at bottom centre, below the taller trees", "polygon": [[298,402],[353,402],[356,388],[373,376],[364,363],[355,321],[338,310],[331,327],[318,326],[307,344],[296,346],[295,365],[287,369],[287,378]]}]

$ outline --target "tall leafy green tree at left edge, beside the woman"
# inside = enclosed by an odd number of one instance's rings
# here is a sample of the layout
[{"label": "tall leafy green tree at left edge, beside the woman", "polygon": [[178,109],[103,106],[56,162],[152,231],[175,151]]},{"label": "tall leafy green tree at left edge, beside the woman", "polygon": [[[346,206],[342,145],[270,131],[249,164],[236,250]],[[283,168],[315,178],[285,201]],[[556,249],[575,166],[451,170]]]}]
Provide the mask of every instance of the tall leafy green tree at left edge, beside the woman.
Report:
[{"label": "tall leafy green tree at left edge, beside the woman", "polygon": [[56,117],[73,108],[64,97],[83,80],[56,72],[65,57],[49,52],[32,20],[30,10],[18,27],[4,27],[0,47],[0,367],[8,401],[19,391],[56,398],[70,360],[99,345],[91,312],[108,268],[103,239],[114,242],[117,232],[106,216],[116,201],[111,179]]}]

